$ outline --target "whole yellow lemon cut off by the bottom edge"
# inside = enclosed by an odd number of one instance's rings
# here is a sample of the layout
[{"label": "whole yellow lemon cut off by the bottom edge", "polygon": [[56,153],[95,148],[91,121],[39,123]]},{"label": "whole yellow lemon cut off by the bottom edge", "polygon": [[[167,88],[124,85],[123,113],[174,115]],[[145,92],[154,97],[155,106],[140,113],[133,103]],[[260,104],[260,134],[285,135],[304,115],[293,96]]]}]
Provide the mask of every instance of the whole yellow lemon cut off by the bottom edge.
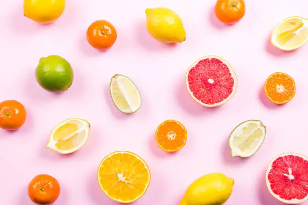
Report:
[{"label": "whole yellow lemon cut off by the bottom edge", "polygon": [[195,180],[186,190],[180,205],[221,205],[233,191],[234,180],[211,173]]}]

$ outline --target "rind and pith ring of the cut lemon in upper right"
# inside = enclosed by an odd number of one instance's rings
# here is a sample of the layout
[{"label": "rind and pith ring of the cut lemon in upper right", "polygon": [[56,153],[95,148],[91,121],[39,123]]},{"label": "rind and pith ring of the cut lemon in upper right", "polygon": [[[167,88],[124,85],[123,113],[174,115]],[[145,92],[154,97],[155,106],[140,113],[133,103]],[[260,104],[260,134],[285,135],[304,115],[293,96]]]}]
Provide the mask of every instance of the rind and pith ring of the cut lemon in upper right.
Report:
[{"label": "rind and pith ring of the cut lemon in upper right", "polygon": [[[274,29],[273,29],[273,31],[272,31],[272,34],[271,34],[271,43],[272,43],[272,45],[273,45],[274,47],[279,48],[279,49],[281,49],[281,50],[283,50],[283,51],[292,51],[292,50],[295,50],[295,49],[297,49],[297,48],[303,46],[303,45],[308,41],[308,35],[307,35],[306,38],[305,38],[301,43],[299,43],[298,45],[293,46],[293,47],[283,46],[283,45],[281,45],[281,44],[279,44],[279,43],[277,42],[277,40],[276,40],[276,39],[277,39],[277,36],[280,34],[280,33],[277,34],[277,30],[278,30],[279,27],[281,27],[285,22],[288,22],[288,21],[290,21],[290,20],[292,20],[292,19],[293,19],[293,20],[300,20],[300,21],[302,21],[302,23],[303,23],[303,28],[308,29],[308,28],[307,28],[308,19],[305,19],[305,18],[302,18],[302,17],[298,17],[298,16],[293,16],[293,17],[289,17],[289,18],[286,18],[286,19],[282,20],[281,22],[279,22],[279,23],[274,27]],[[295,33],[294,35],[296,35],[296,33]]]}]

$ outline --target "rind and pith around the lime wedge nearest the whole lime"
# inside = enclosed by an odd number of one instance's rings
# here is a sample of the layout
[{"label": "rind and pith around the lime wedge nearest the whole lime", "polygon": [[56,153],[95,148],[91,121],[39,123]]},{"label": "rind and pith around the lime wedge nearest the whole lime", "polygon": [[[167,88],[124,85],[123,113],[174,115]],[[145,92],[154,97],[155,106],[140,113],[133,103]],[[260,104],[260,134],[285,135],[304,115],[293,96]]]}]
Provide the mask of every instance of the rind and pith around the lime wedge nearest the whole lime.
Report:
[{"label": "rind and pith around the lime wedge nearest the whole lime", "polygon": [[[138,101],[139,101],[138,106],[136,106],[135,108],[132,108],[132,106],[130,106],[129,103],[128,103],[128,105],[129,105],[129,108],[128,108],[128,109],[127,109],[127,108],[121,108],[121,107],[118,105],[117,100],[116,100],[116,97],[115,97],[115,93],[113,92],[113,89],[112,89],[113,83],[118,83],[118,82],[117,82],[117,81],[118,81],[118,80],[117,80],[118,78],[124,78],[124,79],[126,79],[128,82],[131,83],[131,86],[134,87],[134,91],[137,93],[137,97],[138,97]],[[118,85],[119,85],[119,87],[120,87],[120,89],[121,89],[121,85],[120,85],[119,83],[118,83]],[[137,86],[135,85],[135,83],[134,83],[129,77],[127,77],[127,76],[125,76],[125,75],[121,75],[121,74],[115,74],[115,75],[111,78],[111,80],[110,80],[110,88],[109,88],[109,90],[110,90],[110,96],[111,96],[111,99],[112,99],[112,101],[113,101],[114,106],[115,106],[121,113],[124,113],[124,114],[133,114],[133,113],[136,113],[136,112],[141,108],[141,106],[142,106],[141,94],[140,94],[140,92],[139,92],[139,89],[138,89]],[[122,93],[123,93],[123,89],[121,89],[121,91],[122,91]],[[125,93],[123,93],[123,95],[124,95],[125,100],[128,102],[128,101],[129,101],[129,99],[128,99],[129,97],[128,97]]]}]

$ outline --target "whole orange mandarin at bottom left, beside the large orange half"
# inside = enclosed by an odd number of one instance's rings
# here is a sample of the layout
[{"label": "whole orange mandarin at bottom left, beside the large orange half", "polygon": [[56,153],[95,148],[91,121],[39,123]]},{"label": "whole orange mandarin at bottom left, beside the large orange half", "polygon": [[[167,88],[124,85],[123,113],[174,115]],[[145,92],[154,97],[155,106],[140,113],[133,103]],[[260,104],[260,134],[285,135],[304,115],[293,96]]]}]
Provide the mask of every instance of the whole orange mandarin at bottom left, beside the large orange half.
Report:
[{"label": "whole orange mandarin at bottom left, beside the large orange half", "polygon": [[29,183],[28,194],[34,203],[50,204],[59,197],[60,185],[54,177],[40,174]]}]

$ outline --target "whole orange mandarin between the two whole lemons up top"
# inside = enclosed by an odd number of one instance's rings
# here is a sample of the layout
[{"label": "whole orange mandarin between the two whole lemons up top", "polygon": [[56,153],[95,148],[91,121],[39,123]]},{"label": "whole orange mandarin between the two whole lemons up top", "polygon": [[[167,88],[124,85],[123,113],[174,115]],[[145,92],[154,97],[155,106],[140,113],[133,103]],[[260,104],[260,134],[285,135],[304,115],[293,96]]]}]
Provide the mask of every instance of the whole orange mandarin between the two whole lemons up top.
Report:
[{"label": "whole orange mandarin between the two whole lemons up top", "polygon": [[107,50],[117,40],[117,32],[108,21],[95,21],[88,28],[87,40],[92,47],[99,50]]}]

